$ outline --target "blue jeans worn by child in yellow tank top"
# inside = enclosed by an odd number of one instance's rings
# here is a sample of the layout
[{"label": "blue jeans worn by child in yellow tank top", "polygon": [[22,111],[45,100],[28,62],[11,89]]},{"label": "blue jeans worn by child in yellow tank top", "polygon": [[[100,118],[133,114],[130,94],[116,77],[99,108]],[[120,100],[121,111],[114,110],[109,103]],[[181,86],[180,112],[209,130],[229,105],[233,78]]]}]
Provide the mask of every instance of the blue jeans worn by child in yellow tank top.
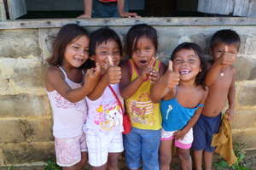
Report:
[{"label": "blue jeans worn by child in yellow tank top", "polygon": [[127,167],[143,170],[159,170],[160,130],[143,130],[132,127],[124,135],[125,161]]}]

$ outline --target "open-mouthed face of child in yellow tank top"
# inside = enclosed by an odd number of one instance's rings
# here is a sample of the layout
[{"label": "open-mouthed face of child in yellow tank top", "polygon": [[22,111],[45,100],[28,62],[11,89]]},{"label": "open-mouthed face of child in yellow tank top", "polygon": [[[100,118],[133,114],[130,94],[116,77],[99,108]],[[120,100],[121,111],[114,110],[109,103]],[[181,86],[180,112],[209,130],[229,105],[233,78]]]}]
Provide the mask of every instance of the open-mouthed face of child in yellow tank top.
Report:
[{"label": "open-mouthed face of child in yellow tank top", "polygon": [[139,68],[147,67],[155,56],[154,43],[148,37],[140,37],[137,40],[137,47],[132,51],[131,59]]}]

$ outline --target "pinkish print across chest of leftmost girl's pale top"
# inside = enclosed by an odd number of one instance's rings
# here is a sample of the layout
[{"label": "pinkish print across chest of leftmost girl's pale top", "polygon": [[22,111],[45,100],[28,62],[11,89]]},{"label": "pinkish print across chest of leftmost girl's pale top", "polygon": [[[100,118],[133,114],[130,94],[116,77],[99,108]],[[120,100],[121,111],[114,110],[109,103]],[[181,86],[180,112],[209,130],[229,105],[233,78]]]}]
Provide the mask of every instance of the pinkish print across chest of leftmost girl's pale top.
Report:
[{"label": "pinkish print across chest of leftmost girl's pale top", "polygon": [[57,108],[62,108],[62,109],[75,109],[76,111],[85,113],[86,112],[86,107],[85,107],[85,99],[80,100],[79,102],[72,103],[68,101],[67,99],[63,98],[61,94],[56,94],[55,95],[55,106]]}]

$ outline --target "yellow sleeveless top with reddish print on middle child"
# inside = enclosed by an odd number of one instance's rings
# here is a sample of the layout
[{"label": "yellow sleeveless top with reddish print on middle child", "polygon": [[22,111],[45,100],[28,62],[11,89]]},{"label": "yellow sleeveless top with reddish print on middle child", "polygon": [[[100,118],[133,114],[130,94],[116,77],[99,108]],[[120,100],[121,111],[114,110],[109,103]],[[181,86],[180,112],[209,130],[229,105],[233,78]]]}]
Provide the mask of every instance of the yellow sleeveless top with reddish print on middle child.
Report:
[{"label": "yellow sleeveless top with reddish print on middle child", "polygon": [[[138,77],[136,65],[129,59],[131,82]],[[160,69],[160,61],[154,63],[155,71]],[[145,80],[135,94],[125,99],[126,111],[131,119],[131,126],[140,129],[159,130],[161,127],[160,104],[154,104],[149,98],[151,82]]]}]

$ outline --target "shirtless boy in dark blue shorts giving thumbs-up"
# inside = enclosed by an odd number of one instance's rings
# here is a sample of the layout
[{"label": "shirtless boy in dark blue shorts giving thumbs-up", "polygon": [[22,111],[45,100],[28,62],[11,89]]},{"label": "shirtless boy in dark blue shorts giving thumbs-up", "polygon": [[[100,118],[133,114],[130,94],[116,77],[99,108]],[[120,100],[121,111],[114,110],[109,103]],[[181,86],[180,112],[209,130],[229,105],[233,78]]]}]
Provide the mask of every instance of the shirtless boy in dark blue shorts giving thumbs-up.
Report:
[{"label": "shirtless boy in dark blue shorts giving thumbs-up", "polygon": [[231,120],[235,111],[235,68],[232,63],[240,46],[240,37],[236,31],[217,31],[211,40],[211,54],[213,62],[207,72],[205,84],[209,88],[205,107],[201,117],[194,127],[195,168],[201,170],[202,157],[205,161],[205,169],[212,169],[211,146],[212,135],[218,133],[221,122],[221,111],[224,109],[226,100],[229,101],[229,109],[225,111]]}]

